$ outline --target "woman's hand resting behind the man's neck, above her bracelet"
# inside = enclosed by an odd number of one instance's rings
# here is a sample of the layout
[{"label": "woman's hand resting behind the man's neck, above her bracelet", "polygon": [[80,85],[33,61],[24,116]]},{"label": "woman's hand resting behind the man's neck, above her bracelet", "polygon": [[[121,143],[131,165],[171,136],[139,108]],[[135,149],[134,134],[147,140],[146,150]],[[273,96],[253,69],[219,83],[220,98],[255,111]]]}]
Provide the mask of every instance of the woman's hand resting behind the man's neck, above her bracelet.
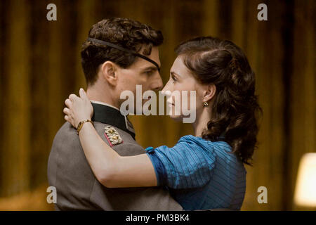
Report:
[{"label": "woman's hand resting behind the man's neck, above her bracelet", "polygon": [[83,120],[91,120],[93,107],[88,96],[86,96],[84,89],[79,90],[79,96],[70,94],[65,100],[65,105],[67,106],[63,110],[65,113],[65,120],[70,122],[74,128],[77,128],[79,122]]}]

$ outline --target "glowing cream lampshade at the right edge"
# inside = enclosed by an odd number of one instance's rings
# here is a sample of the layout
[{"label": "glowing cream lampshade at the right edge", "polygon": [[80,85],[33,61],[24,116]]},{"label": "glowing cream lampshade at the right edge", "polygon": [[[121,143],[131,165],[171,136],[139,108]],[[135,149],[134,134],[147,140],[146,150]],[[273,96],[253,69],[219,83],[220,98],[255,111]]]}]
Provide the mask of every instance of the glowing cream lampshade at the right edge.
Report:
[{"label": "glowing cream lampshade at the right edge", "polygon": [[301,159],[294,201],[296,205],[316,206],[316,153],[306,153]]}]

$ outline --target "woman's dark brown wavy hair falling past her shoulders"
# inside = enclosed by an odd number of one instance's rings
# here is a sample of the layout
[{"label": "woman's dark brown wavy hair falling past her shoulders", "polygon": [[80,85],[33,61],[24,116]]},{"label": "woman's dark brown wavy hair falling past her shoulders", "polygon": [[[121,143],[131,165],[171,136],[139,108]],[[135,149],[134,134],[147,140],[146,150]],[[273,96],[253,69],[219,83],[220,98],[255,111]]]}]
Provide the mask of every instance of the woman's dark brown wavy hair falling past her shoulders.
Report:
[{"label": "woman's dark brown wavy hair falling past her shoulders", "polygon": [[211,120],[203,139],[225,141],[242,162],[251,165],[262,110],[255,95],[255,75],[242,49],[231,41],[197,37],[176,47],[178,56],[202,84],[215,84]]}]

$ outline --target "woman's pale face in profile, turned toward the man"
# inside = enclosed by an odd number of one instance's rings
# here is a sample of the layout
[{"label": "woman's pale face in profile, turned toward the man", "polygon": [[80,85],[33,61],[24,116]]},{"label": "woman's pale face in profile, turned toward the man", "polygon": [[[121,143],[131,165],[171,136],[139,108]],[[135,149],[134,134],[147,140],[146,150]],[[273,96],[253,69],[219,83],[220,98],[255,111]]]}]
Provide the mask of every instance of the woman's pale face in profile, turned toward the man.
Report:
[{"label": "woman's pale face in profile, turned toward the man", "polygon": [[195,115],[199,115],[203,108],[205,85],[197,82],[183,63],[183,57],[178,56],[173,62],[169,81],[162,89],[167,96],[167,113],[173,120],[189,117],[186,113],[188,110],[195,110]]}]

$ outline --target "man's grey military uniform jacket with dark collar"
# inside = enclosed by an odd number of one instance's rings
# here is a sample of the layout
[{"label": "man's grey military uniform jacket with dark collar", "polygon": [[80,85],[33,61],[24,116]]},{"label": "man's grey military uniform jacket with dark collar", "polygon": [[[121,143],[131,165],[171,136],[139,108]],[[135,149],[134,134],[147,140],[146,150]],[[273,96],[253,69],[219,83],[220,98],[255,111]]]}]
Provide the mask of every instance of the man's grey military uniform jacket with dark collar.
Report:
[{"label": "man's grey military uniform jacket with dark collar", "polygon": [[[105,125],[117,130],[122,143],[113,148],[119,155],[139,155],[145,150],[135,141],[133,127],[119,110],[93,103],[94,127],[100,137]],[[163,187],[106,188],[94,176],[81,148],[76,129],[62,125],[48,158],[48,183],[57,190],[55,210],[183,210]]]}]

